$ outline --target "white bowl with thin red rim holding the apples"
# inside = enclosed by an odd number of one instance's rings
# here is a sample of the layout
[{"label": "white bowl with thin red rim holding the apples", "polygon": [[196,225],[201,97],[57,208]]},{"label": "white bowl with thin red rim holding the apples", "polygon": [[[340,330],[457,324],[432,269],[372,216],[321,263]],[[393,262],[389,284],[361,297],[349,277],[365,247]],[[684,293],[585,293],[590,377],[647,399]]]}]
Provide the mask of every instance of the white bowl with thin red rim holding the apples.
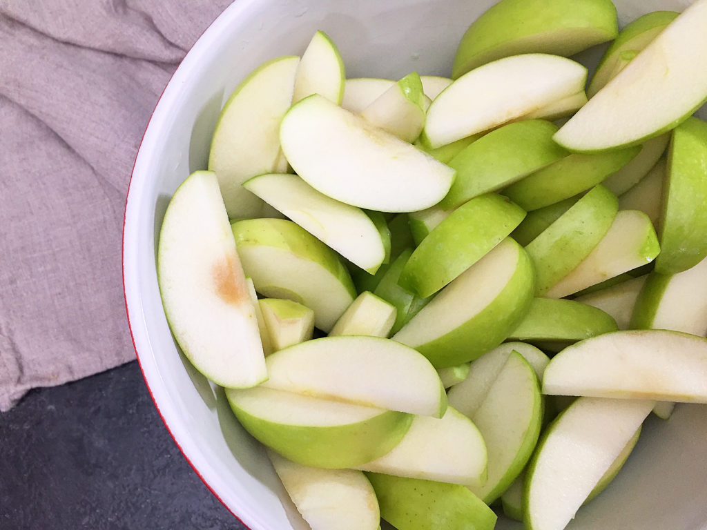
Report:
[{"label": "white bowl with thin red rim holding the apples", "polygon": [[[248,72],[301,54],[317,29],[337,43],[349,77],[448,75],[457,42],[493,0],[238,0],[209,27],[171,79],[136,159],[125,209],[123,273],[134,346],[175,442],[228,510],[253,530],[307,528],[259,444],[177,351],[160,303],[156,245],[177,185],[206,167],[221,105]],[[622,22],[686,0],[616,0]],[[561,500],[559,500],[561,502]],[[499,522],[499,528],[520,528]],[[609,489],[571,529],[707,529],[707,407],[650,418]]]}]

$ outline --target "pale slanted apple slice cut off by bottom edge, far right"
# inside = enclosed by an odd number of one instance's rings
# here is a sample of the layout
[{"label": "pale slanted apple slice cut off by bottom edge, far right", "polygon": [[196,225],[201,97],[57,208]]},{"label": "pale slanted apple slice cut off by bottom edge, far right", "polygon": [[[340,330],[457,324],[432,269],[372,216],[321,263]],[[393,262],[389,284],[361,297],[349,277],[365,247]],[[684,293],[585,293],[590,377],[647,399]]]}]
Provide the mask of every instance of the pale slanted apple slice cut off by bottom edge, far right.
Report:
[{"label": "pale slanted apple slice cut off by bottom edge, far right", "polygon": [[525,526],[565,528],[654,403],[580,398],[567,408],[544,433],[528,468]]}]

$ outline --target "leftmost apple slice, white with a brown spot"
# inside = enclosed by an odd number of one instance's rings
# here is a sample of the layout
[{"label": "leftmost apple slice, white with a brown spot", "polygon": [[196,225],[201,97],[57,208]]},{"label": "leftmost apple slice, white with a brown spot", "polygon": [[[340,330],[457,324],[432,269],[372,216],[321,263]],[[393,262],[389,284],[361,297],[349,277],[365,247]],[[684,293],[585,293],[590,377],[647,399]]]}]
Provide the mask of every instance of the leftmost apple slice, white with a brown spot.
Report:
[{"label": "leftmost apple slice, white with a brown spot", "polygon": [[199,372],[223,387],[267,379],[255,307],[213,172],[192,173],[170,200],[157,277],[170,329]]}]

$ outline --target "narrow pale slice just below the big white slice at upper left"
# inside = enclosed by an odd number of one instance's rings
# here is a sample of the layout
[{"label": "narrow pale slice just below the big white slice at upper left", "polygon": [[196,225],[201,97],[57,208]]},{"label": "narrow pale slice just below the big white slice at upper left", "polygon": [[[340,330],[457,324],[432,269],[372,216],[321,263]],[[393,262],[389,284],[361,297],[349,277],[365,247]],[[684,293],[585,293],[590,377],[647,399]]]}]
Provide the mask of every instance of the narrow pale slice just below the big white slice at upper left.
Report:
[{"label": "narrow pale slice just below the big white slice at upper left", "polygon": [[243,187],[361,269],[374,274],[384,261],[380,232],[361,208],[317,192],[297,175],[259,175]]}]

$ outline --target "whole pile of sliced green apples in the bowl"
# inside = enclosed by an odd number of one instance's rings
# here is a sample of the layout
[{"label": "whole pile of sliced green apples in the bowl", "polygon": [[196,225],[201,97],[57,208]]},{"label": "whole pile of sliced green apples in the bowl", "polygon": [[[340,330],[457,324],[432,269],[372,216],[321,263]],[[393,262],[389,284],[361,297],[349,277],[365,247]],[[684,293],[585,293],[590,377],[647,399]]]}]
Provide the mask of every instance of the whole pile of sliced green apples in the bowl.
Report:
[{"label": "whole pile of sliced green apples in the bowl", "polygon": [[235,89],[160,292],[312,529],[561,530],[707,403],[705,27],[500,0],[453,80],[346,79],[317,31]]}]

